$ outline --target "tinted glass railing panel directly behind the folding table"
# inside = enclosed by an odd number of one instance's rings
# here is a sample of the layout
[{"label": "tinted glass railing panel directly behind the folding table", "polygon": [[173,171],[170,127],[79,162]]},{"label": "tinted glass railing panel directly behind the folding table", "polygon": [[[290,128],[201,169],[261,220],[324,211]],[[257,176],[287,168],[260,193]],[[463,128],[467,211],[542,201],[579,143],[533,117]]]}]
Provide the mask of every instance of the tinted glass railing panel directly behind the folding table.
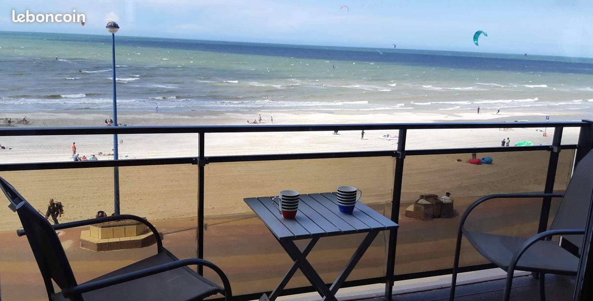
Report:
[{"label": "tinted glass railing panel directly behind the folding table", "polygon": [[[205,259],[227,273],[234,294],[272,290],[292,260],[243,198],[275,196],[285,189],[301,194],[329,192],[339,185],[353,185],[363,191],[363,203],[384,214],[385,204],[391,201],[393,166],[391,157],[208,164]],[[375,239],[348,280],[385,275],[384,235]],[[331,283],[362,239],[362,235],[321,238],[307,258]],[[298,243],[301,248],[306,244]],[[210,271],[205,272],[208,278],[216,279]],[[288,287],[309,285],[297,272]]]}]

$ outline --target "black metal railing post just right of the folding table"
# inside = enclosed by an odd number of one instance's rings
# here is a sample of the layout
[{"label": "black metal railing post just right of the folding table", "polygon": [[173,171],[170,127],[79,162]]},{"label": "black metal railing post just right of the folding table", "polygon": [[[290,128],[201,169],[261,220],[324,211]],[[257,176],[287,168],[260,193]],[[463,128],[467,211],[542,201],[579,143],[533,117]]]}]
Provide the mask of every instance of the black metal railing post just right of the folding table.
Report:
[{"label": "black metal railing post just right of the folding table", "polygon": [[[391,197],[391,220],[398,223],[401,203],[401,179],[406,158],[406,129],[400,129],[397,140],[396,168],[393,177],[393,196]],[[397,229],[389,231],[387,242],[387,270],[385,271],[385,300],[391,301],[393,294],[394,265],[396,262]]]}]

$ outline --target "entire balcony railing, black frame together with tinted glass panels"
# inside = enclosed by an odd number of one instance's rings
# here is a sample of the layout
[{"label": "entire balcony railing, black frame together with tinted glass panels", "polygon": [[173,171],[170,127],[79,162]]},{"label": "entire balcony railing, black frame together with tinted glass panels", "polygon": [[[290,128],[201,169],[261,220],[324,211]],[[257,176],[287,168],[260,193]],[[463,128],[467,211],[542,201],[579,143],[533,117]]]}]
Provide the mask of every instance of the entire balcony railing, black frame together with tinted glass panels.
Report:
[{"label": "entire balcony railing, black frame together with tinted glass panels", "polygon": [[[547,123],[400,123],[270,126],[155,126],[155,127],[56,127],[0,129],[1,136],[197,134],[197,155],[180,158],[120,159],[90,162],[22,162],[0,164],[0,176],[44,211],[46,197],[64,200],[68,219],[85,219],[97,210],[97,200],[113,201],[113,211],[147,217],[162,231],[164,244],[178,257],[199,257],[219,265],[228,274],[235,300],[259,299],[272,289],[291,263],[263,223],[243,203],[244,197],[273,196],[291,188],[301,193],[334,191],[348,183],[364,191],[363,201],[400,224],[400,229],[378,236],[344,287],[386,283],[391,296],[393,281],[451,273],[458,216],[418,220],[405,217],[406,209],[420,194],[453,193],[455,212],[463,213],[471,201],[491,193],[563,191],[573,164],[591,149],[591,121]],[[466,147],[407,149],[410,130],[477,130],[496,128],[553,129],[549,145],[521,147]],[[563,131],[577,128],[576,144],[563,144]],[[208,133],[332,132],[397,130],[397,145],[388,150],[358,150],[261,155],[207,155]],[[551,132],[551,130],[550,130]],[[195,143],[195,142],[187,142]],[[562,152],[560,151],[562,150]],[[494,164],[465,164],[471,153],[490,156]],[[461,162],[457,159],[461,158]],[[1,163],[1,162],[0,162]],[[404,164],[405,163],[405,164]],[[117,169],[119,181],[114,181]],[[266,171],[257,172],[252,171]],[[113,186],[119,188],[114,196]],[[84,198],[88,201],[80,201]],[[71,201],[68,201],[71,200]],[[75,201],[76,200],[76,201]],[[68,207],[70,204],[72,206]],[[74,206],[84,204],[84,206]],[[155,205],[157,204],[157,205]],[[557,200],[508,200],[484,206],[476,212],[474,227],[496,233],[530,236],[546,229]],[[477,210],[476,210],[477,211]],[[20,227],[18,219],[2,210],[6,229]],[[3,233],[4,232],[4,233]],[[78,233],[65,233],[66,253],[79,281],[89,280],[146,256],[144,249],[93,253],[78,249]],[[28,262],[28,247],[14,232],[0,237],[16,247],[0,249],[0,258],[12,264]],[[356,235],[322,239],[308,258],[330,282],[358,246]],[[68,240],[66,240],[68,239]],[[72,246],[68,244],[73,244]],[[491,268],[476,251],[462,246],[461,271]],[[146,248],[150,249],[150,248]],[[23,265],[24,266],[24,265]],[[18,272],[11,264],[0,265],[2,275]],[[23,270],[21,270],[23,272]],[[199,270],[199,273],[203,271]],[[24,272],[23,272],[24,273]],[[216,277],[208,275],[208,278]],[[2,294],[15,296],[11,287],[24,283],[3,282]],[[43,291],[42,281],[37,281]],[[307,280],[295,276],[284,294],[310,292]],[[19,296],[20,297],[20,296]],[[17,298],[18,299],[18,298]],[[31,298],[34,299],[34,298]]]}]

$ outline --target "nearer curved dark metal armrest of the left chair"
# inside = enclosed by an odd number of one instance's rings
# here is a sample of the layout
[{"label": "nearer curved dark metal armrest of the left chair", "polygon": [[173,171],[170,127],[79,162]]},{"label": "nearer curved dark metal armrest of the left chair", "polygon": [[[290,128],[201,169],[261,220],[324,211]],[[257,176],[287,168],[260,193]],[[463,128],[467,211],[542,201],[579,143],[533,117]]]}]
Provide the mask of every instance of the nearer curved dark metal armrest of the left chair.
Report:
[{"label": "nearer curved dark metal armrest of the left chair", "polygon": [[155,267],[149,267],[142,270],[133,271],[123,275],[113,276],[110,278],[101,279],[90,283],[78,284],[77,286],[68,289],[63,289],[62,295],[65,298],[68,298],[75,294],[82,294],[91,292],[92,290],[103,289],[104,287],[113,286],[114,284],[125,283],[127,281],[135,280],[146,276],[151,276],[154,274],[162,273],[164,271],[174,270],[176,268],[194,264],[205,265],[206,267],[211,268],[213,271],[216,272],[216,274],[218,274],[219,277],[221,277],[225,290],[225,300],[230,301],[232,297],[232,292],[231,284],[229,283],[227,276],[222,272],[222,270],[219,267],[217,267],[212,262],[198,258],[189,258],[173,262],[167,262],[166,264],[161,264]]}]

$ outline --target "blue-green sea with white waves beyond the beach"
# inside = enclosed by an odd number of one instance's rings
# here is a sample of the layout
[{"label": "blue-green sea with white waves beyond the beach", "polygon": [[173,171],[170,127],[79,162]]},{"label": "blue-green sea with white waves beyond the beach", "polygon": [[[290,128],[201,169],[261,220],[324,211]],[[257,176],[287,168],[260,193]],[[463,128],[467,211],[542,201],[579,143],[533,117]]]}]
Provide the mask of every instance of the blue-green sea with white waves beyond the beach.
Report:
[{"label": "blue-green sea with white waves beyond the beach", "polygon": [[[0,31],[0,111],[110,111],[111,66],[109,34]],[[116,35],[116,87],[120,111],[585,114],[593,59]]]}]

